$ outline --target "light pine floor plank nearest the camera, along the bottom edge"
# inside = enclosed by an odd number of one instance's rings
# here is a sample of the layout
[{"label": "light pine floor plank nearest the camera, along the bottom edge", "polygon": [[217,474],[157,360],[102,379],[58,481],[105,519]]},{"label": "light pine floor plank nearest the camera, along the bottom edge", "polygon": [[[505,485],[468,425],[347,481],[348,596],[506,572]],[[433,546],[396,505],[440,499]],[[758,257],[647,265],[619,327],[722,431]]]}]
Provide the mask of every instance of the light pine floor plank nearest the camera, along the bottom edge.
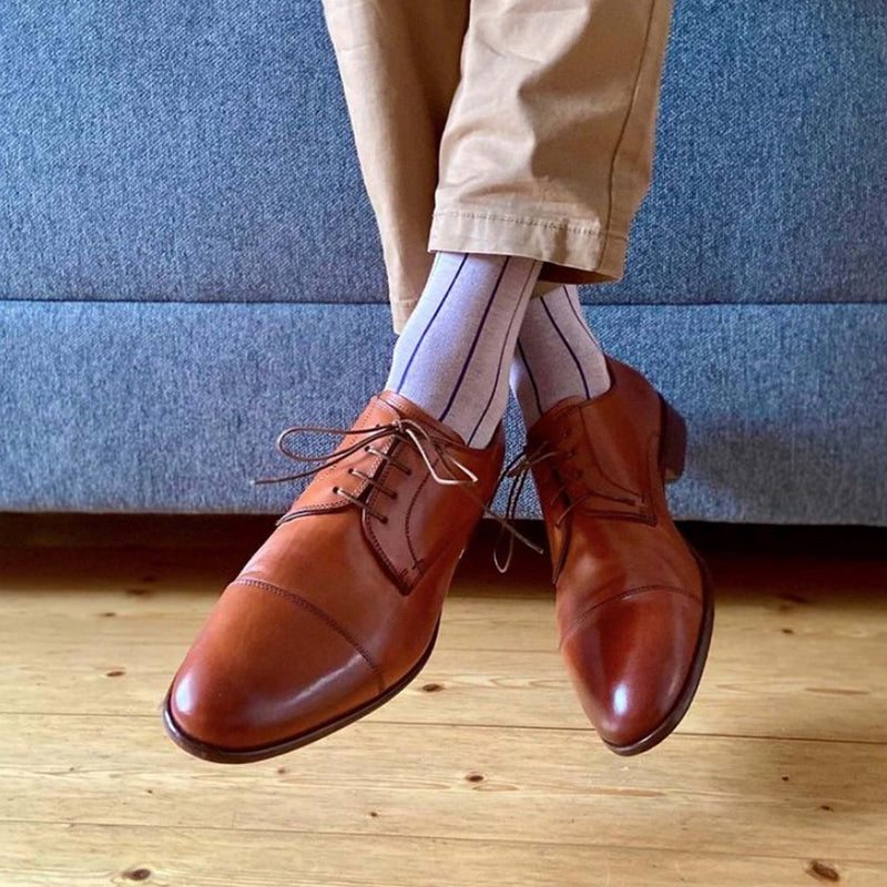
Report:
[{"label": "light pine floor plank nearest the camera, along the bottom edge", "polygon": [[[3,887],[785,887],[826,884],[810,859],[378,835],[0,824]],[[854,887],[887,866],[819,860]],[[823,868],[827,866],[827,869]]]}]

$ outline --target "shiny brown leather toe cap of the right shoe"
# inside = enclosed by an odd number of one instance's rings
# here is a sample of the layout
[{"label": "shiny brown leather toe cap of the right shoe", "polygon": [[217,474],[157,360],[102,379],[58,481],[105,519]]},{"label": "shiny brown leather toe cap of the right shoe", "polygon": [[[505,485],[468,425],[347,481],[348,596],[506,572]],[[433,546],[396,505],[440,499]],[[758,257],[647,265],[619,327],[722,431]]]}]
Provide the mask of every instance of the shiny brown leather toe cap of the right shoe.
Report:
[{"label": "shiny brown leather toe cap of the right shoe", "polygon": [[664,736],[667,721],[677,714],[673,728],[680,720],[694,690],[687,682],[702,624],[696,597],[653,588],[594,608],[565,636],[562,652],[582,707],[613,751],[648,747],[651,734]]}]

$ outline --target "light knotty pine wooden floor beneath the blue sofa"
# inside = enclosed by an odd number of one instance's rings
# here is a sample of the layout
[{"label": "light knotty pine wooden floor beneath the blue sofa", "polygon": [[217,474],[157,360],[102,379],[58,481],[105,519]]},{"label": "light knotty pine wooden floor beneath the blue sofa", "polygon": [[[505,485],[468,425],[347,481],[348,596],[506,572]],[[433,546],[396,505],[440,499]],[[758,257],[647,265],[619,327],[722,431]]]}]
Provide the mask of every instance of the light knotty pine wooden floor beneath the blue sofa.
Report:
[{"label": "light knotty pine wooden floor beneath the blue sofa", "polygon": [[887,552],[695,539],[708,666],[680,730],[623,758],[561,667],[544,562],[501,579],[481,539],[410,687],[225,766],[174,746],[160,703],[273,518],[14,518],[0,887],[887,885]]}]

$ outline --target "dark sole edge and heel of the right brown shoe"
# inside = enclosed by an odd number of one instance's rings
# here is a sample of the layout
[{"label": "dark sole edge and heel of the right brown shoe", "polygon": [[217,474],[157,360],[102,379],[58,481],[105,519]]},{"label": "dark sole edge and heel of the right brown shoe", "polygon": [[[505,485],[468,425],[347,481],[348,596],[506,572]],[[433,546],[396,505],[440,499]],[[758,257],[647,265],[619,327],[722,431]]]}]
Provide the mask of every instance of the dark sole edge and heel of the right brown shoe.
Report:
[{"label": "dark sole edge and heel of the right brown shoe", "polygon": [[[660,467],[665,483],[672,483],[684,473],[686,424],[683,417],[664,397],[660,395],[660,399],[663,410]],[[606,740],[603,740],[604,745],[618,755],[638,755],[641,754],[641,752],[649,751],[654,745],[659,745],[659,743],[670,735],[677,724],[681,723],[687,708],[690,708],[690,703],[693,702],[693,697],[696,695],[696,690],[702,680],[702,672],[705,667],[705,661],[708,657],[708,648],[712,642],[712,629],[714,626],[714,583],[712,582],[712,574],[708,570],[708,565],[702,559],[699,551],[696,551],[686,539],[684,539],[684,544],[690,549],[690,553],[695,559],[700,569],[700,575],[702,577],[702,625],[700,626],[700,636],[696,640],[696,649],[693,652],[693,662],[690,673],[684,681],[684,686],[681,689],[681,693],[674,706],[672,706],[672,710],[655,730],[648,733],[643,738],[629,745],[613,745],[606,742]]]}]

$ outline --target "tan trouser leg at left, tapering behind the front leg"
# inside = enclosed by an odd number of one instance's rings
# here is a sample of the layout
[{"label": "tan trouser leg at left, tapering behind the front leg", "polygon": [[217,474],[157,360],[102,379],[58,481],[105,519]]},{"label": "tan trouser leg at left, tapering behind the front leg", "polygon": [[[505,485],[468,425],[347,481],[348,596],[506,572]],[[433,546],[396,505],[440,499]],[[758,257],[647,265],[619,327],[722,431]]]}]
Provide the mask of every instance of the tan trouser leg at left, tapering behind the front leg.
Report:
[{"label": "tan trouser leg at left, tapering behind the front leg", "polygon": [[434,259],[438,150],[468,10],[468,0],[324,0],[398,333]]}]

